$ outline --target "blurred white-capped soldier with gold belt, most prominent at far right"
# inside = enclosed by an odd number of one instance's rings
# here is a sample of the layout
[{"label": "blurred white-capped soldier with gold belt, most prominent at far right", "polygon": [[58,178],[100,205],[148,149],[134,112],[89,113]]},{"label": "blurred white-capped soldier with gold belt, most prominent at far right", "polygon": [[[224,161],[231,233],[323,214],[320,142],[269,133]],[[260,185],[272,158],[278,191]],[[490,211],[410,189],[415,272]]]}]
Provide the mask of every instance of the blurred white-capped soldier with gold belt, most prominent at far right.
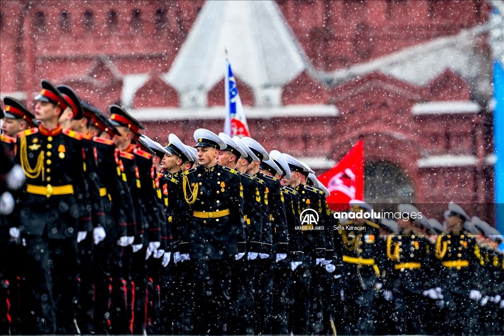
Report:
[{"label": "blurred white-capped soldier with gold belt, most prominent at far right", "polygon": [[[447,234],[437,237],[435,256],[440,260],[446,320],[444,334],[479,332],[481,267],[484,260],[474,236],[464,229],[469,216],[454,203],[448,205]],[[463,321],[463,323],[461,323]]]}]

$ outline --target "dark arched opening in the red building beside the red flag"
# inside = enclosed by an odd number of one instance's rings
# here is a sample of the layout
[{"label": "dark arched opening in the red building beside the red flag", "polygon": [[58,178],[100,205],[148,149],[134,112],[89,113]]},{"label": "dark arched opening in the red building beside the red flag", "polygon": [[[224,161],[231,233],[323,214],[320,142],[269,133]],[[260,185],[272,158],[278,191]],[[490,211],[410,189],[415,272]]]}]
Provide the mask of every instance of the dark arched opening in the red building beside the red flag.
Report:
[{"label": "dark arched opening in the red building beside the red flag", "polygon": [[369,204],[414,203],[414,190],[406,173],[386,161],[364,165],[364,200]]}]

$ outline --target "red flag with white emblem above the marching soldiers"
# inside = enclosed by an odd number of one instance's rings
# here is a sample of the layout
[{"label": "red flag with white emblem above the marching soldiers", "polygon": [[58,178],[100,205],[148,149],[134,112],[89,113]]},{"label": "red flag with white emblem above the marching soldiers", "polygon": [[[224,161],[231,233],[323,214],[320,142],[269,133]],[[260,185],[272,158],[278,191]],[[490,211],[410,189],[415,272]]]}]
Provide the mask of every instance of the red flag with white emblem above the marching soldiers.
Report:
[{"label": "red flag with white emblem above the marching soldiers", "polygon": [[364,143],[357,144],[331,170],[322,174],[319,181],[331,195],[327,197],[329,208],[334,211],[348,209],[350,199],[364,198]]}]

